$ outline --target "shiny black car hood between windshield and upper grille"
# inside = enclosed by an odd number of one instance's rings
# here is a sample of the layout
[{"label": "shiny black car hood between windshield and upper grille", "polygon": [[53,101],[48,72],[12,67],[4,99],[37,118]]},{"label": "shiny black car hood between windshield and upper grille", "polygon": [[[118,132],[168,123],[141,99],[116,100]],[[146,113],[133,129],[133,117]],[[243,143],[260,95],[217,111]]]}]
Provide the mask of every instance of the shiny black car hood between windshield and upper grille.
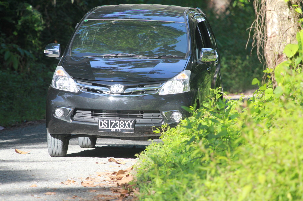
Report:
[{"label": "shiny black car hood between windshield and upper grille", "polygon": [[66,56],[63,68],[73,78],[99,81],[163,81],[185,69],[187,59],[96,58]]}]

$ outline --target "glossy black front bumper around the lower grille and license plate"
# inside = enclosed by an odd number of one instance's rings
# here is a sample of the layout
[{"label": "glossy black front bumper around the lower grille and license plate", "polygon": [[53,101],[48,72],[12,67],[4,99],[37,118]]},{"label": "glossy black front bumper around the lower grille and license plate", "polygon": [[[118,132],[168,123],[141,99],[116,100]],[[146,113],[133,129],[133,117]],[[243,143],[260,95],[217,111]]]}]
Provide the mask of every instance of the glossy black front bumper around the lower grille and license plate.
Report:
[{"label": "glossy black front bumper around the lower grille and license plate", "polygon": [[[47,95],[46,128],[50,134],[85,134],[105,137],[156,137],[160,134],[153,133],[152,127],[161,127],[168,124],[171,127],[178,125],[170,118],[172,111],[180,111],[183,116],[189,116],[181,106],[193,105],[194,94],[192,91],[181,94],[158,95],[117,98],[105,97],[85,92],[65,92],[50,87]],[[56,118],[53,113],[55,108],[61,107],[65,111],[62,118]],[[157,110],[160,111],[162,121],[157,123],[135,124],[133,133],[98,132],[98,122],[76,120],[77,109],[83,110]]]}]

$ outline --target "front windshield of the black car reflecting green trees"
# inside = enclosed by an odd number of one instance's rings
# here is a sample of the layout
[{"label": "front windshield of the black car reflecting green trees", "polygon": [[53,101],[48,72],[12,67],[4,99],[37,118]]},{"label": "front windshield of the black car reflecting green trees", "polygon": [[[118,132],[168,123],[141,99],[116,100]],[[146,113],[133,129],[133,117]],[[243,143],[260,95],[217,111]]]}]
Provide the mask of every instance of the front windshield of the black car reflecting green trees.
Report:
[{"label": "front windshield of the black car reflecting green trees", "polygon": [[83,21],[72,41],[71,55],[80,57],[103,54],[145,57],[174,55],[178,58],[178,56],[184,57],[187,53],[187,41],[185,23],[86,20]]}]

